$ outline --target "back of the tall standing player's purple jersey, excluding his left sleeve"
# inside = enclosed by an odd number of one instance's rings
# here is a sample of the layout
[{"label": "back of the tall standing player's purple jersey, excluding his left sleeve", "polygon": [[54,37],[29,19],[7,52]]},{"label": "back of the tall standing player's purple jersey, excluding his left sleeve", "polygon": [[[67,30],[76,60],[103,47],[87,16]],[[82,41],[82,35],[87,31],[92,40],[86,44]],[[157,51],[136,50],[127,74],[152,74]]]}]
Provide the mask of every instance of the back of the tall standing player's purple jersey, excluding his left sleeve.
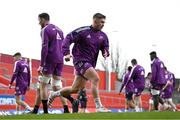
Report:
[{"label": "back of the tall standing player's purple jersey, excluding his left sleeve", "polygon": [[[42,30],[42,36],[48,37],[48,54],[46,58],[47,63],[63,63],[62,42],[64,40],[63,32],[57,26],[48,24]],[[43,38],[42,38],[43,39]]]}]

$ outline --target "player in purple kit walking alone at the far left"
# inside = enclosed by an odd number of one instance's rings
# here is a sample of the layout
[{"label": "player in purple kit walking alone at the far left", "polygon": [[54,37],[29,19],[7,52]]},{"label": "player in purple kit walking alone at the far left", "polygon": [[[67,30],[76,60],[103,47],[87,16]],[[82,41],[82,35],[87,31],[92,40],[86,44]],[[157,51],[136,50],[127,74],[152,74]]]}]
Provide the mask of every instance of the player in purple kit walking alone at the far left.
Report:
[{"label": "player in purple kit walking alone at the far left", "polygon": [[22,96],[26,94],[26,91],[30,88],[30,69],[29,65],[26,60],[22,59],[21,53],[15,53],[13,55],[15,64],[14,64],[14,71],[11,78],[11,82],[9,84],[9,88],[11,89],[11,86],[14,81],[16,81],[15,86],[15,98],[16,98],[16,111],[17,114],[20,114],[20,106],[23,106],[27,110],[31,111],[31,107],[21,100]]}]

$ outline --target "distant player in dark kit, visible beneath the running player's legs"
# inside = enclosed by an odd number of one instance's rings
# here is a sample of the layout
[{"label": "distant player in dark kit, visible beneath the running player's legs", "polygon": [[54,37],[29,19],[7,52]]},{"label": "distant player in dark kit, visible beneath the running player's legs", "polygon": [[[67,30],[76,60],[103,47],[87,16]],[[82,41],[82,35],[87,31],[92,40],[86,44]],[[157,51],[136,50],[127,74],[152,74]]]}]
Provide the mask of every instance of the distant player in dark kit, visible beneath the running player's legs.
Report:
[{"label": "distant player in dark kit, visible beneath the running player's legs", "polygon": [[85,113],[86,112],[86,107],[87,107],[86,88],[79,91],[78,100],[79,100],[80,105],[81,105],[80,113]]}]

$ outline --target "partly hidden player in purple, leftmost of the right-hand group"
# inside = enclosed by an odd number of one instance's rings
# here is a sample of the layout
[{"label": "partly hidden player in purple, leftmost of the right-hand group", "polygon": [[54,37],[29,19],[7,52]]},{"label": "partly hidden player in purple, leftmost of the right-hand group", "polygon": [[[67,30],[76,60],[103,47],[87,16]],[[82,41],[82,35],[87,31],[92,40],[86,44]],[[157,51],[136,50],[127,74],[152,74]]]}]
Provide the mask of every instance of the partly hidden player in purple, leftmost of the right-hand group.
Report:
[{"label": "partly hidden player in purple, leftmost of the right-hand group", "polygon": [[132,67],[129,66],[125,73],[125,76],[123,77],[123,84],[119,91],[121,93],[121,91],[125,88],[125,94],[126,94],[126,109],[125,109],[125,111],[128,111],[129,108],[131,108],[131,109],[135,108],[134,100],[133,100],[133,93],[134,93],[133,80],[128,81],[131,70],[132,70]]}]

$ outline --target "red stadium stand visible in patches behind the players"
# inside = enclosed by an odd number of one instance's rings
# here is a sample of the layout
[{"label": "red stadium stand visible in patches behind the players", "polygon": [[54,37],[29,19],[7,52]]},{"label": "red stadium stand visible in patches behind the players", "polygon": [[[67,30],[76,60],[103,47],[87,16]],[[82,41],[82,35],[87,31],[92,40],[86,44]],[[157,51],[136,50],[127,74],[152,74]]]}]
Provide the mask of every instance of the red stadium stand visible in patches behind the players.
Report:
[{"label": "red stadium stand visible in patches behind the players", "polygon": [[[32,82],[31,90],[27,92],[25,96],[25,101],[30,105],[34,105],[35,95],[36,95],[36,82],[37,82],[37,68],[39,67],[39,60],[31,59],[32,66]],[[8,84],[13,71],[13,57],[7,54],[0,54],[0,95],[13,95],[14,90],[8,89]],[[124,94],[118,94],[115,92],[116,84],[116,73],[111,73],[111,92],[106,90],[106,79],[105,71],[98,70],[98,74],[101,78],[99,89],[102,103],[107,108],[124,108],[125,97]],[[74,79],[74,68],[73,66],[64,65],[63,68],[63,85],[70,86]],[[94,100],[89,88],[91,88],[90,81],[87,82],[87,96],[88,96],[88,108],[95,108]],[[74,95],[77,97],[77,95]],[[143,108],[148,109],[149,94],[144,94],[142,96]],[[71,104],[69,104],[71,105]],[[56,98],[53,103],[52,108],[62,108],[60,99]],[[15,109],[15,105],[0,105],[1,110]]]}]

